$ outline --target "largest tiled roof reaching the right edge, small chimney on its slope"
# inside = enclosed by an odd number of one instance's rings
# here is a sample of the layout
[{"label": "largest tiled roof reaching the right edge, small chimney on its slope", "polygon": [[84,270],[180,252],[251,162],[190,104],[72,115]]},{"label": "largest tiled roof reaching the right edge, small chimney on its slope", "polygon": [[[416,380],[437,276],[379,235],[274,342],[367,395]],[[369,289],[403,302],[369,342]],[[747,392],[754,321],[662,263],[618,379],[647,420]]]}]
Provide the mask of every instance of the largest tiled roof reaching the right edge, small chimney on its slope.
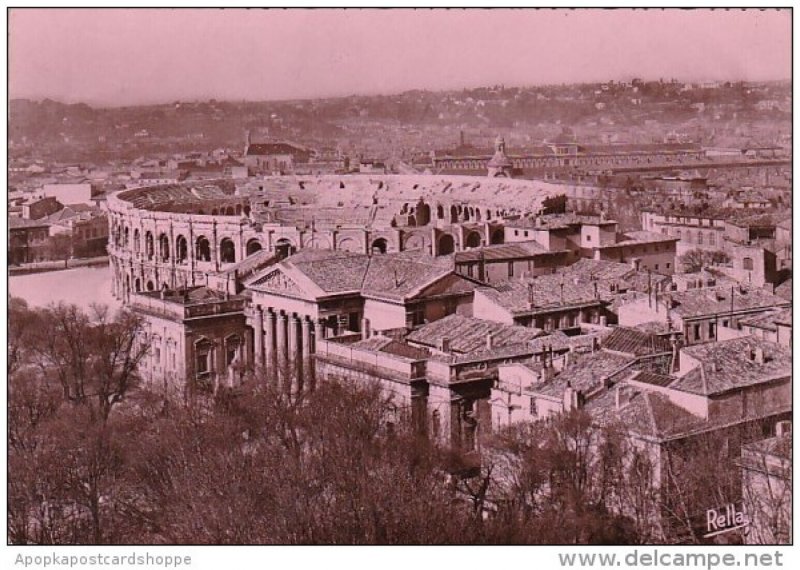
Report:
[{"label": "largest tiled roof reaching the right edge, small chimney on its slope", "polygon": [[[756,362],[756,348],[764,353],[764,362]],[[698,360],[700,365],[678,378],[673,388],[701,395],[712,395],[753,386],[792,373],[790,348],[754,336],[698,344],[681,349],[681,355]]]}]

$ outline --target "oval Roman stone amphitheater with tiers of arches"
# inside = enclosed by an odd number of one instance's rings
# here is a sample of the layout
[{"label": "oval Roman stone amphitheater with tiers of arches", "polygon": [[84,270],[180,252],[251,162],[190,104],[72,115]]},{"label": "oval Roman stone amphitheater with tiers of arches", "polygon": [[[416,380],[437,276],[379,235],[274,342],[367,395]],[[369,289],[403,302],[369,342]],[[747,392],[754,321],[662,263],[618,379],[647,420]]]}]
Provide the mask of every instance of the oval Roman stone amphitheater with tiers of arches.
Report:
[{"label": "oval Roman stone amphitheater with tiers of arches", "polygon": [[160,185],[108,199],[113,293],[237,279],[248,261],[304,248],[434,256],[502,243],[507,218],[542,210],[564,186],[430,175],[230,179]]}]

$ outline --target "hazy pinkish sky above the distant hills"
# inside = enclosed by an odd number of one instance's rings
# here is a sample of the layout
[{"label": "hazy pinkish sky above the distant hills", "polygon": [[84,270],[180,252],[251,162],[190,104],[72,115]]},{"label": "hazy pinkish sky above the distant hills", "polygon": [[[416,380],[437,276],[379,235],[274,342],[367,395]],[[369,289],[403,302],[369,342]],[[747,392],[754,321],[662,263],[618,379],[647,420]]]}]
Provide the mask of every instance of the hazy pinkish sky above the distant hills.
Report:
[{"label": "hazy pinkish sky above the distant hills", "polygon": [[12,9],[10,94],[122,105],[791,76],[791,12]]}]

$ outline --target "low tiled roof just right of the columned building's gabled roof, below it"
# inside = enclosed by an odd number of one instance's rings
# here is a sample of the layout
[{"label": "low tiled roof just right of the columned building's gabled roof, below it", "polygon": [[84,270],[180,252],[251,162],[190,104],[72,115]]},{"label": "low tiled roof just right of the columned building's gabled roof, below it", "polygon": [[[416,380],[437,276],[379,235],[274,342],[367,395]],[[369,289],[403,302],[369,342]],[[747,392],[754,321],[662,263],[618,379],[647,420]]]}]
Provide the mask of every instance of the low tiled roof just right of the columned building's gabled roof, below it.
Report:
[{"label": "low tiled roof just right of the columned building's gabled roof, below it", "polygon": [[526,343],[543,335],[539,329],[504,325],[461,315],[448,315],[412,331],[409,342],[438,348],[442,339],[450,342],[454,353],[472,353],[486,348],[487,335],[492,335],[493,348]]}]

